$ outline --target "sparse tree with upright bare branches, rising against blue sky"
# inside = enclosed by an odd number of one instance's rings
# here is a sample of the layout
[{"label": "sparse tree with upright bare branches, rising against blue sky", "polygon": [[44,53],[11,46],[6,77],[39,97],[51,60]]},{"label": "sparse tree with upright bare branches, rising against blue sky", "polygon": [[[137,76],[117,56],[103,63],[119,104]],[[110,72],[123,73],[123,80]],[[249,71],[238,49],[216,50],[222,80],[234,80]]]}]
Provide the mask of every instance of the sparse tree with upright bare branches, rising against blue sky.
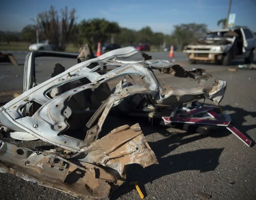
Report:
[{"label": "sparse tree with upright bare branches, rising against blue sky", "polygon": [[51,41],[52,49],[64,51],[75,30],[75,10],[68,12],[66,7],[59,16],[51,6],[49,11],[38,14],[37,22],[45,38]]}]

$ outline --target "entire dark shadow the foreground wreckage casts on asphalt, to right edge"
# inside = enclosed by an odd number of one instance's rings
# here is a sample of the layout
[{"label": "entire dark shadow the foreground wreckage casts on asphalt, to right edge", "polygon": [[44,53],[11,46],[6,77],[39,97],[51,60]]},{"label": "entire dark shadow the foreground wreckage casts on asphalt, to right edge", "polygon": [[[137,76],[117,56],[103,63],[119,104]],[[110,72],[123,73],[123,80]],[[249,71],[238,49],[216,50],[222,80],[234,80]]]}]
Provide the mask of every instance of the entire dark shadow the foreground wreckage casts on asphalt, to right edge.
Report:
[{"label": "entire dark shadow the foreground wreckage casts on asphalt, to right edge", "polygon": [[[242,125],[243,122],[246,122],[244,119],[245,116],[256,117],[256,112],[248,112],[242,108],[235,108],[232,106],[224,106],[224,111],[232,111],[230,114],[232,119],[232,124],[240,130],[244,135],[250,138],[246,131],[256,128],[255,125]],[[136,122],[136,118],[133,118],[132,121],[126,120],[125,124],[133,125]],[[109,123],[108,123],[109,124]],[[123,123],[124,124],[124,123]],[[120,125],[123,125],[120,124]],[[130,165],[127,169],[127,181],[120,186],[118,190],[115,190],[111,195],[110,199],[114,200],[120,196],[134,190],[134,186],[130,185],[130,182],[138,181],[140,189],[142,190],[144,196],[146,196],[146,190],[144,184],[152,182],[162,176],[171,175],[173,173],[178,173],[180,171],[190,171],[198,170],[200,173],[213,171],[219,164],[219,157],[223,151],[223,148],[220,149],[200,149],[196,151],[189,151],[185,153],[180,153],[176,155],[166,155],[171,154],[177,147],[185,145],[206,137],[226,137],[232,134],[226,128],[220,128],[218,131],[212,131],[207,135],[194,135],[192,137],[187,137],[192,135],[192,133],[176,133],[168,132],[166,127],[160,125],[149,125],[146,120],[140,119],[140,127],[144,135],[150,135],[152,133],[160,133],[165,136],[164,139],[160,139],[155,142],[148,142],[151,149],[154,151],[159,164],[151,165],[143,169],[140,165],[134,164]],[[115,124],[116,125],[116,124]],[[242,141],[241,141],[242,142]],[[252,141],[252,146],[254,145]]]}]

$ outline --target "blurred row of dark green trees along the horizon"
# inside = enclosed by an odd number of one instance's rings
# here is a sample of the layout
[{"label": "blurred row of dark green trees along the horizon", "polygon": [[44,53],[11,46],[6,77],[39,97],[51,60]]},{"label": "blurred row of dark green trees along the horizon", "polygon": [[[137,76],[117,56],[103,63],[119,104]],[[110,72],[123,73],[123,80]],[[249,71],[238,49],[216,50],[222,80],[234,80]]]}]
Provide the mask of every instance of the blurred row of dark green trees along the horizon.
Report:
[{"label": "blurred row of dark green trees along the horizon", "polygon": [[[98,41],[102,44],[118,43],[121,46],[137,45],[146,43],[155,45],[158,48],[163,43],[176,45],[180,49],[184,45],[197,41],[207,31],[206,24],[180,24],[174,25],[170,34],[153,32],[149,26],[136,31],[126,27],[120,27],[116,22],[109,22],[106,19],[94,18],[82,20],[76,23],[75,10],[68,11],[68,8],[58,12],[53,6],[48,11],[38,14],[37,25],[26,25],[21,32],[0,32],[0,42],[24,41],[27,43],[36,42],[36,29],[39,32],[40,41],[48,39],[51,41],[53,50],[64,51],[68,43],[82,45],[88,43],[94,49]],[[218,25],[224,25],[225,19],[219,20]]]}]

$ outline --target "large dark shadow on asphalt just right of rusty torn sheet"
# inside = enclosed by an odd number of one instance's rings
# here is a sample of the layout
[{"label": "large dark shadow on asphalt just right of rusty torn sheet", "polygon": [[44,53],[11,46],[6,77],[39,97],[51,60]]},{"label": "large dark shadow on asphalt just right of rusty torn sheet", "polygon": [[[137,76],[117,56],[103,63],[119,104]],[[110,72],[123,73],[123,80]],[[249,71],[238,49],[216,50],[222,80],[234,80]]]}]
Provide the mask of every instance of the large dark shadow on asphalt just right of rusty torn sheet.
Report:
[{"label": "large dark shadow on asphalt just right of rusty torn sheet", "polygon": [[[142,130],[146,135],[146,124],[141,124]],[[148,129],[151,129],[148,127]],[[153,129],[153,130],[152,130]],[[158,131],[158,133],[166,135],[164,129],[152,128],[152,131]],[[198,170],[201,173],[213,171],[219,164],[219,157],[223,151],[220,149],[200,149],[196,151],[189,151],[185,153],[169,155],[174,149],[181,145],[194,142],[199,139],[208,137],[209,135],[195,135],[193,137],[184,138],[191,133],[170,133],[170,135],[164,139],[160,139],[155,142],[148,142],[151,149],[154,151],[159,164],[151,165],[143,169],[140,165],[129,165],[127,169],[127,181],[120,186],[120,188],[113,192],[111,200],[119,198],[120,196],[134,190],[134,186],[130,185],[130,182],[138,181],[139,186],[146,196],[146,190],[144,185],[152,182],[162,176],[171,175],[180,171]]]}]

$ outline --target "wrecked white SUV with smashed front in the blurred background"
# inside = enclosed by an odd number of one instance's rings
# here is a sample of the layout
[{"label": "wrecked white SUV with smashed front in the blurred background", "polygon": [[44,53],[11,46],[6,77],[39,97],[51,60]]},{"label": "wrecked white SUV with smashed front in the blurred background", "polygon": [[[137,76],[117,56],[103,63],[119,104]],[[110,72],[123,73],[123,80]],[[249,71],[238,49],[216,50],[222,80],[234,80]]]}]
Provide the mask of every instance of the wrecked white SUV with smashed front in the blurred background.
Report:
[{"label": "wrecked white SUV with smashed front in the blurred background", "polygon": [[208,31],[197,43],[184,47],[191,63],[209,61],[211,63],[230,65],[233,59],[245,59],[252,63],[256,38],[248,27],[234,27]]}]

